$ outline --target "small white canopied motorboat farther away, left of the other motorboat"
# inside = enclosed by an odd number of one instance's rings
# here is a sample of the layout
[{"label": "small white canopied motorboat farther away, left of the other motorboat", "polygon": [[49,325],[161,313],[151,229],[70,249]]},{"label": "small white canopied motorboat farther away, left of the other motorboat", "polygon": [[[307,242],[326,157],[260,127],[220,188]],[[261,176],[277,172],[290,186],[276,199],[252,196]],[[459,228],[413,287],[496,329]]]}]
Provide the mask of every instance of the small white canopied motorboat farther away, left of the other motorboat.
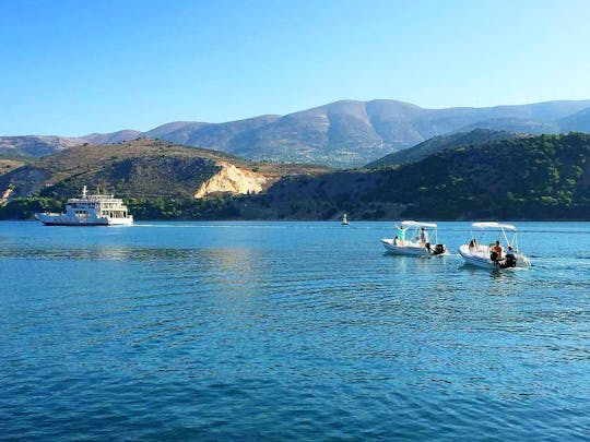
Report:
[{"label": "small white canopied motorboat farther away, left of the other motorboat", "polygon": [[[388,252],[414,256],[434,256],[447,253],[445,244],[438,243],[438,227],[434,223],[404,220],[398,226],[394,238],[384,238],[381,243]],[[434,239],[434,242],[432,240]]]}]

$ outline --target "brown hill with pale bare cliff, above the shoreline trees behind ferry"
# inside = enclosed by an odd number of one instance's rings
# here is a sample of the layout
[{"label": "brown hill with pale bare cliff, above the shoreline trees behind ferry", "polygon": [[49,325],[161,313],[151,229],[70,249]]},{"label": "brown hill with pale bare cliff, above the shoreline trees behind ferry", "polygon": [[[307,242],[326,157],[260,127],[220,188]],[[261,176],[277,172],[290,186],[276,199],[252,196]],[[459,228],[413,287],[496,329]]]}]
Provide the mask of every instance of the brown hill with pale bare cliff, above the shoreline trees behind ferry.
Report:
[{"label": "brown hill with pale bare cliff, above the shoreline trees behind ferry", "polygon": [[[11,189],[11,198],[36,192],[42,196],[67,198],[87,186],[121,195],[192,198],[199,191],[200,196],[225,191],[259,192],[282,176],[326,170],[257,164],[221,152],[141,139],[76,146],[39,158],[0,175],[0,192]],[[208,182],[212,178],[215,180]]]}]

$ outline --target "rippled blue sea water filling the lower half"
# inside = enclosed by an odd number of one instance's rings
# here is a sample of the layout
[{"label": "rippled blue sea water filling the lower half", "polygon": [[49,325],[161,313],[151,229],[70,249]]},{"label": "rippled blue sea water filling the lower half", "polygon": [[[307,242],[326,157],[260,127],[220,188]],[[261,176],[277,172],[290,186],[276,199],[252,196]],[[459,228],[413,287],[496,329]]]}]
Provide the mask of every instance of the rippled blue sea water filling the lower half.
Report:
[{"label": "rippled blue sea water filling the lower half", "polygon": [[0,223],[0,437],[589,438],[590,223],[518,227],[498,273],[391,223]]}]

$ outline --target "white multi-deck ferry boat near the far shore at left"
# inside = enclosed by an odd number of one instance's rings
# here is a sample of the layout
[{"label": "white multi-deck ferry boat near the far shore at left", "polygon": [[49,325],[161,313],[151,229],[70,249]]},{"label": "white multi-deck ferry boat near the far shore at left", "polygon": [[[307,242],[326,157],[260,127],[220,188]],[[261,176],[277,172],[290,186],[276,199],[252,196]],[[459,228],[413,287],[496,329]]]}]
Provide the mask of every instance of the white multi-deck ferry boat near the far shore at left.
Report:
[{"label": "white multi-deck ferry boat near the far shore at left", "polygon": [[133,216],[129,214],[122,200],[111,194],[86,194],[71,198],[66,204],[66,213],[37,213],[35,217],[46,226],[129,226]]}]

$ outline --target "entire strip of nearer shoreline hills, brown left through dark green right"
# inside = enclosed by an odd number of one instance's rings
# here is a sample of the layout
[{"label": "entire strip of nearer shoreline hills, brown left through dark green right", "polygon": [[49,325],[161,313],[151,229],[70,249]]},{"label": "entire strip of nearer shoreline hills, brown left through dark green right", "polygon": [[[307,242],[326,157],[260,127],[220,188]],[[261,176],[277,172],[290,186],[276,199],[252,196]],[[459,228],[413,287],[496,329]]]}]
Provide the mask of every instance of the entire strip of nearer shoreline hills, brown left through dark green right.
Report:
[{"label": "entire strip of nearer shoreline hills, brown left through dark green right", "polygon": [[72,147],[0,176],[11,200],[0,218],[60,210],[83,184],[126,196],[138,219],[338,219],[345,212],[353,223],[588,220],[590,134],[496,140],[394,168],[338,171],[153,140]]}]

